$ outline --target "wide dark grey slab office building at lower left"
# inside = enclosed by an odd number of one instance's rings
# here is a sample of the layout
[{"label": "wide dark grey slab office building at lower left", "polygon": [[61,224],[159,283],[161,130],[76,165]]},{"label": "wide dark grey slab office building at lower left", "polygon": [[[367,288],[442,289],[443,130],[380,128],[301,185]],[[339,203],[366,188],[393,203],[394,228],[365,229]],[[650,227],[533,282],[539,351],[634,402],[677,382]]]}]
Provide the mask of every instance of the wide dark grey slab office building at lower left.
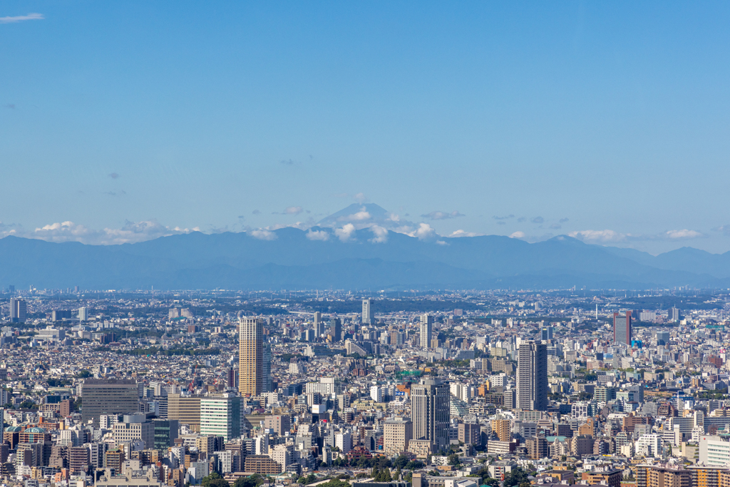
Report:
[{"label": "wide dark grey slab office building at lower left", "polygon": [[137,381],[128,379],[85,379],[82,388],[81,420],[93,419],[99,426],[99,416],[124,414],[139,409]]}]

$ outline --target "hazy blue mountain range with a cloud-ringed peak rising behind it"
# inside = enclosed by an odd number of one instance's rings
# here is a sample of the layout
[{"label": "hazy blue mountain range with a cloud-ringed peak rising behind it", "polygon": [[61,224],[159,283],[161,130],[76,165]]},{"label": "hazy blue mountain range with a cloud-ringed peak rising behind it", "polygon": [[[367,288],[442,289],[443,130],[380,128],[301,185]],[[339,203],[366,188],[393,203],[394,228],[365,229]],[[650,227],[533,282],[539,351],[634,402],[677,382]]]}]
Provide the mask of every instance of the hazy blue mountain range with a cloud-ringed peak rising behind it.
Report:
[{"label": "hazy blue mountain range with a cloud-ringed peak rising behind it", "polygon": [[[377,206],[377,205],[374,205]],[[380,207],[377,207],[380,208]],[[358,210],[354,211],[353,210]],[[0,286],[83,289],[443,289],[730,287],[730,253],[680,248],[652,256],[558,236],[408,234],[374,220],[347,228],[360,205],[307,230],[192,232],[123,245],[0,239]],[[382,209],[381,209],[382,210]],[[356,218],[367,220],[365,215]],[[338,225],[344,223],[343,228]]]}]

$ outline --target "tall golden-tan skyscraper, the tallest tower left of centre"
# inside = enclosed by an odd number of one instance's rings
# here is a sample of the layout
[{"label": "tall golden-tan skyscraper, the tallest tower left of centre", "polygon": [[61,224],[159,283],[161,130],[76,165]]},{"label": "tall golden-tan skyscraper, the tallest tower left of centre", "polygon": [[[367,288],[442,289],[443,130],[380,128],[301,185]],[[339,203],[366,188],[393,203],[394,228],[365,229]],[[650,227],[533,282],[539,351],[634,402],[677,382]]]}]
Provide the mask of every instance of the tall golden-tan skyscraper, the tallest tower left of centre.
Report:
[{"label": "tall golden-tan skyscraper, the tallest tower left of centre", "polygon": [[264,321],[261,318],[239,320],[238,391],[242,396],[264,392]]}]

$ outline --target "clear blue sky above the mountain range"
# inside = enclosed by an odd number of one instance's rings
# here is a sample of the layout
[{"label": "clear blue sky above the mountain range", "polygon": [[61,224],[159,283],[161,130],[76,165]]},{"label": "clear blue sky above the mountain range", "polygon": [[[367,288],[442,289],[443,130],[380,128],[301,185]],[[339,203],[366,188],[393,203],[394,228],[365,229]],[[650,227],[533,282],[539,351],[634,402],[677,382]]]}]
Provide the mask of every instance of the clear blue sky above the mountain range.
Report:
[{"label": "clear blue sky above the mountain range", "polygon": [[366,201],[444,236],[725,252],[729,21],[727,2],[4,1],[0,234],[304,228]]}]

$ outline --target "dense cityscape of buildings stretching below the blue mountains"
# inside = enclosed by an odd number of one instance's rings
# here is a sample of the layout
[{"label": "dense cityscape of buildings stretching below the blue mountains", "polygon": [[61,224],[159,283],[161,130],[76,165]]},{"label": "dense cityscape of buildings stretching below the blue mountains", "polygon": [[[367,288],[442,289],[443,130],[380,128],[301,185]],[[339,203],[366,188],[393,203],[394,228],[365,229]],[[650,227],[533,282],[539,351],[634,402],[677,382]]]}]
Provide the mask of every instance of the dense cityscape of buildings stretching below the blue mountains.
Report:
[{"label": "dense cityscape of buildings stretching below the blue mountains", "polygon": [[730,294],[4,290],[4,485],[730,485]]}]

